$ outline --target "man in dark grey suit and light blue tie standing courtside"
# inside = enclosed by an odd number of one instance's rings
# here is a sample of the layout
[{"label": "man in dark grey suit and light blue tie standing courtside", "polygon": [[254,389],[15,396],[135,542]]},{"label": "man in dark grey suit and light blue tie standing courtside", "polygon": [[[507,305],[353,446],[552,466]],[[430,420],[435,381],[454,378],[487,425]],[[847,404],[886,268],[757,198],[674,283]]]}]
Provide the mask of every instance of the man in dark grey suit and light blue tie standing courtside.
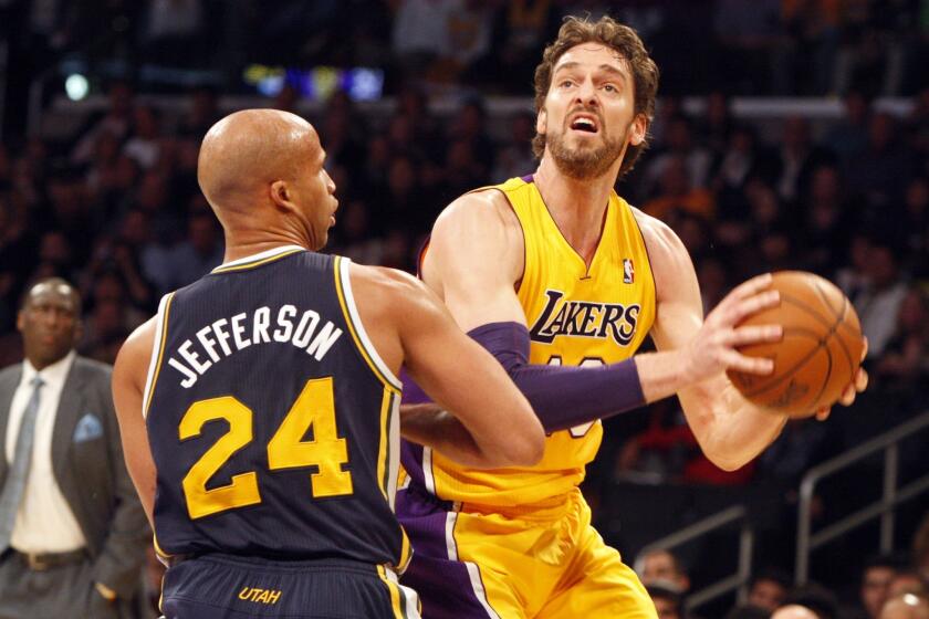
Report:
[{"label": "man in dark grey suit and light blue tie standing courtside", "polygon": [[149,532],[123,460],[111,367],[79,357],[81,301],[33,285],[25,360],[0,371],[0,618],[134,616]]}]

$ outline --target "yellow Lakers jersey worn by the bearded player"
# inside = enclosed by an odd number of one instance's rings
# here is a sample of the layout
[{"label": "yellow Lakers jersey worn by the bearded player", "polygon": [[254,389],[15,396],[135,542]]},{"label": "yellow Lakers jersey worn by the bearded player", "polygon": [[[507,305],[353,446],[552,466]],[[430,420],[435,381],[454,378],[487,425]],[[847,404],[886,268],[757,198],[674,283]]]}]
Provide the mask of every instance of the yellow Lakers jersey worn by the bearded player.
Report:
[{"label": "yellow Lakers jersey worn by the bearded player", "polygon": [[[518,296],[530,331],[531,364],[592,366],[635,354],[655,321],[655,282],[645,240],[629,204],[610,192],[589,267],[552,219],[535,183],[513,178],[494,187],[519,217],[525,269]],[[437,452],[422,473],[438,497],[492,506],[547,503],[571,492],[599,449],[595,421],[552,433],[542,461],[479,471]]]}]

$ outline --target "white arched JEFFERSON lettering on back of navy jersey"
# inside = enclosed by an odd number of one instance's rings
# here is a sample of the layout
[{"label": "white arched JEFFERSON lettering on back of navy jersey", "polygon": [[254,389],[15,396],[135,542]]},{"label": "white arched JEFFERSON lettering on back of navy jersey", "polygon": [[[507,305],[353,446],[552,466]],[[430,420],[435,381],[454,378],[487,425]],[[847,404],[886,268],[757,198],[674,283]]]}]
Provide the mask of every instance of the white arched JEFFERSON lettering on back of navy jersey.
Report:
[{"label": "white arched JEFFERSON lettering on back of navy jersey", "polygon": [[184,376],[180,386],[189,389],[222,357],[253,344],[291,344],[319,361],[342,335],[342,329],[331,321],[320,327],[321,322],[317,312],[301,313],[290,304],[273,315],[268,306],[259,307],[251,316],[242,312],[203,326],[196,339],[185,339],[168,358],[168,365]]}]

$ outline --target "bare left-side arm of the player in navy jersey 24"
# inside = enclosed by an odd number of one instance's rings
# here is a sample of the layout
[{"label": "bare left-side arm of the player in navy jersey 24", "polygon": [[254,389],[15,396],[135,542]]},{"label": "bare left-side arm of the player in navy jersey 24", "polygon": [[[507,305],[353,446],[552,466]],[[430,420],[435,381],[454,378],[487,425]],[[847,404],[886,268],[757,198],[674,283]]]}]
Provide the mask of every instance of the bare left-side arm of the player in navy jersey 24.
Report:
[{"label": "bare left-side arm of the player in navy jersey 24", "polygon": [[119,420],[126,468],[154,526],[156,471],[143,416],[143,391],[155,339],[155,318],[139,326],[123,344],[113,366],[113,402]]}]

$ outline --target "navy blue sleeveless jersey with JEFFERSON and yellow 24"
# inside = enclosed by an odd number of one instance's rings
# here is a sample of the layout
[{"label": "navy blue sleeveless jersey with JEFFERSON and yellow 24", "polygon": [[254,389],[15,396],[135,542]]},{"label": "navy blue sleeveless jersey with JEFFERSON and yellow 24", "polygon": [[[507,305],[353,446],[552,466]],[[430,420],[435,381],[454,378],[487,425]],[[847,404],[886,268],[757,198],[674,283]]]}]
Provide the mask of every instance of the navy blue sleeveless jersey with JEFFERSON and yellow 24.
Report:
[{"label": "navy blue sleeveless jersey with JEFFERSON and yellow 24", "polygon": [[145,389],[166,555],[403,568],[399,381],[358,319],[348,260],[279,248],[161,301]]}]

